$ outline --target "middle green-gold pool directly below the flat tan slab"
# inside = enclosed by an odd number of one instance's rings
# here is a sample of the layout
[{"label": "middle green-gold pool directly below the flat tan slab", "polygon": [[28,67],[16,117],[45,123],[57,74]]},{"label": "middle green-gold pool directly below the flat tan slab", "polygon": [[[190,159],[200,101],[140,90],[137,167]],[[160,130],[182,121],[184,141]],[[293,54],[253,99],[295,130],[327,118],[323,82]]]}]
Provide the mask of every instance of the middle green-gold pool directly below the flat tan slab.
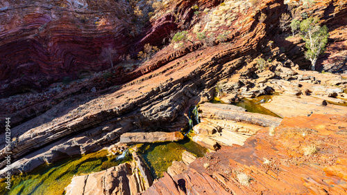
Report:
[{"label": "middle green-gold pool directly below the flat tan slab", "polygon": [[162,142],[146,144],[139,149],[154,178],[161,178],[164,171],[172,165],[172,161],[182,160],[183,151],[189,151],[197,157],[202,157],[208,151],[189,138],[179,142]]}]

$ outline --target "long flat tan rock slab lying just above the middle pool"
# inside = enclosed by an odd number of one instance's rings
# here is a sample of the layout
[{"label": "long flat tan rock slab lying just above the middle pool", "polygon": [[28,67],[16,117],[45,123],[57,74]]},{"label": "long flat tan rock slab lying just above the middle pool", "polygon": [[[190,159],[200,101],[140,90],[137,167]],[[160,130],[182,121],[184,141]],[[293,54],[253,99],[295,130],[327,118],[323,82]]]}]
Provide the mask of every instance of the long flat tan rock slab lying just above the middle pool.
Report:
[{"label": "long flat tan rock slab lying just above the middle pool", "polygon": [[185,136],[180,132],[123,133],[119,142],[124,144],[172,142],[183,140],[183,138],[185,138]]}]

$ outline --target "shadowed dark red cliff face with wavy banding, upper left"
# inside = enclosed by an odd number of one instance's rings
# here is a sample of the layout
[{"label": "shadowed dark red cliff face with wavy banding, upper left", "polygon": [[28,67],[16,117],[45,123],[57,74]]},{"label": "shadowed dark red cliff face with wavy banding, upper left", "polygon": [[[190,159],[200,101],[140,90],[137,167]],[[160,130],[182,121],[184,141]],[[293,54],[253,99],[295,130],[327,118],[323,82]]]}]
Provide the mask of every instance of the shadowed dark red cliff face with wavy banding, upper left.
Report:
[{"label": "shadowed dark red cliff face with wavy banding, upper left", "polygon": [[137,58],[144,44],[159,45],[177,29],[175,17],[168,14],[134,37],[130,6],[108,3],[80,8],[65,1],[5,2],[8,6],[0,12],[0,97],[110,68],[109,59],[101,56],[104,48],[116,51],[115,64],[123,54]]}]

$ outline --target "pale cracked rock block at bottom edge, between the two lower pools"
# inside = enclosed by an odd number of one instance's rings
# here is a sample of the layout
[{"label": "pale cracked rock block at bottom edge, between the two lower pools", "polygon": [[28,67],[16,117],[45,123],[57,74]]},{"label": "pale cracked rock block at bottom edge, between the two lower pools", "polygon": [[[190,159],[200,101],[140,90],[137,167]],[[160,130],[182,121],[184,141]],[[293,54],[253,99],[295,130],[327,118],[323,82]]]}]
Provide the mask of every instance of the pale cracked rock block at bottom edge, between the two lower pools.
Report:
[{"label": "pale cracked rock block at bottom edge, between the two lower pools", "polygon": [[151,173],[134,152],[131,163],[72,178],[66,194],[137,194],[148,189],[152,182]]}]

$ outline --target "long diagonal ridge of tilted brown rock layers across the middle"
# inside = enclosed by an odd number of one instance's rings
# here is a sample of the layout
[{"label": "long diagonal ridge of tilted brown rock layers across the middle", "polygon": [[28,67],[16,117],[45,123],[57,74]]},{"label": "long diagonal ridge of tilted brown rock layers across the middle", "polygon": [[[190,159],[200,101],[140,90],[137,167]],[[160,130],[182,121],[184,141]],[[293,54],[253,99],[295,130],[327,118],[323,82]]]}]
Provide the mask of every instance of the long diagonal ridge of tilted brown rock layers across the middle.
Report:
[{"label": "long diagonal ridge of tilted brown rock layers across the middle", "polygon": [[[243,9],[246,6],[244,3],[235,5]],[[133,82],[99,93],[65,97],[67,99],[43,115],[12,128],[13,160],[21,159],[12,164],[13,168],[27,171],[62,156],[96,151],[117,142],[121,133],[128,131],[156,130],[159,127],[177,131],[187,123],[185,113],[189,106],[213,97],[218,80],[224,79],[231,84],[228,86],[232,88],[222,86],[226,93],[234,88],[241,91],[240,95],[268,93],[271,90],[267,90],[269,88],[266,89],[262,82],[259,84],[261,89],[255,91],[257,93],[250,90],[258,82],[252,79],[257,70],[252,61],[254,54],[260,52],[263,57],[271,57],[274,65],[293,65],[278,47],[265,39],[276,30],[278,21],[275,16],[284,9],[285,5],[280,1],[269,1],[253,15],[255,19],[245,20],[246,16],[236,19],[238,24],[242,20],[245,23],[239,29],[231,30],[228,40],[233,41],[232,44],[219,44],[203,50],[196,50],[201,43],[187,44],[176,53],[171,53],[174,46],[167,46],[134,72],[147,74]],[[266,12],[264,23],[257,20],[260,12]],[[276,73],[276,69],[271,70]],[[232,85],[235,79],[239,80],[238,84]],[[96,98],[101,93],[108,94]]]}]

